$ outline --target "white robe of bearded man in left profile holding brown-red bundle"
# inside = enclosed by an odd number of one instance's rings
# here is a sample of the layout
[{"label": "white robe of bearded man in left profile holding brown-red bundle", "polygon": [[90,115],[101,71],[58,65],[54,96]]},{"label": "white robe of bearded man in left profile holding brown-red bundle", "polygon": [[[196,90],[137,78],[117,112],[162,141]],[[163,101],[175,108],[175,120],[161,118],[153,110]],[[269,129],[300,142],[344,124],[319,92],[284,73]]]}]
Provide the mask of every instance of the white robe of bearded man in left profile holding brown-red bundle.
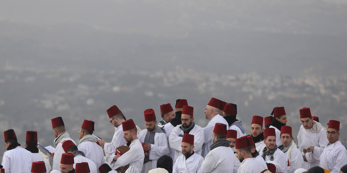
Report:
[{"label": "white robe of bearded man in left profile holding brown-red bundle", "polygon": [[129,150],[118,157],[116,162],[113,162],[113,158],[116,156],[112,154],[108,161],[108,165],[110,165],[112,170],[116,170],[119,167],[126,166],[130,164],[130,166],[135,166],[138,172],[141,172],[143,166],[143,160],[145,158],[145,154],[143,152],[143,147],[139,139],[135,139],[129,145]]}]

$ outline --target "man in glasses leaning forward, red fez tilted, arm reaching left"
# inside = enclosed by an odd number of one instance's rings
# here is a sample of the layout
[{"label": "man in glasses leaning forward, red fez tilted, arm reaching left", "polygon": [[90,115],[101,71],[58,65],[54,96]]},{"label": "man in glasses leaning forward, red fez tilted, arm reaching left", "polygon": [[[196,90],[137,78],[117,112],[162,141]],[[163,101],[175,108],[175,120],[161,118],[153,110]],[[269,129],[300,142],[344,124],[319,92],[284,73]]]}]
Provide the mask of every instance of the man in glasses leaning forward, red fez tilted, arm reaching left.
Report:
[{"label": "man in glasses leaning forward, red fez tilted, arm reaching left", "polygon": [[125,116],[118,109],[116,105],[111,106],[108,110],[106,110],[108,117],[110,119],[110,123],[115,129],[115,133],[113,134],[112,141],[106,142],[105,140],[98,139],[100,146],[104,148],[106,159],[108,160],[112,154],[115,153],[117,147],[126,145],[125,139],[123,138],[123,127],[122,122],[125,121]]}]

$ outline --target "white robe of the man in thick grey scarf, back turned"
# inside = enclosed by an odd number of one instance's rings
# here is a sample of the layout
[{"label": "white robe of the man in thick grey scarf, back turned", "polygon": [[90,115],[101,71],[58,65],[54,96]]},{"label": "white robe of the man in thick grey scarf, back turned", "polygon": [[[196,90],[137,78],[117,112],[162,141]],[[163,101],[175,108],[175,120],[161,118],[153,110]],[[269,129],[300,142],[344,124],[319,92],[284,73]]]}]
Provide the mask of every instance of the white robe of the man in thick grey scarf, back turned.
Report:
[{"label": "white robe of the man in thick grey scarf, back turned", "polygon": [[201,164],[203,173],[232,173],[234,170],[235,154],[230,147],[212,149]]}]

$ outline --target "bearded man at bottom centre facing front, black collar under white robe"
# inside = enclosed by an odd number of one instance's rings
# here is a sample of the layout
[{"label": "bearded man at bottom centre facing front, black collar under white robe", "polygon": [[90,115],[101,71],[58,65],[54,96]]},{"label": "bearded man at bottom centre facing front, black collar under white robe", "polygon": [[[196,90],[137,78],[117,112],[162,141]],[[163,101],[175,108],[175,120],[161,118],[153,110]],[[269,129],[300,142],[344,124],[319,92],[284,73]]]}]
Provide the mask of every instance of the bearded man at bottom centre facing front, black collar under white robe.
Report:
[{"label": "bearded man at bottom centre facing front, black collar under white robe", "polygon": [[204,158],[194,152],[194,135],[188,133],[183,135],[181,150],[183,155],[177,158],[172,173],[201,173]]}]

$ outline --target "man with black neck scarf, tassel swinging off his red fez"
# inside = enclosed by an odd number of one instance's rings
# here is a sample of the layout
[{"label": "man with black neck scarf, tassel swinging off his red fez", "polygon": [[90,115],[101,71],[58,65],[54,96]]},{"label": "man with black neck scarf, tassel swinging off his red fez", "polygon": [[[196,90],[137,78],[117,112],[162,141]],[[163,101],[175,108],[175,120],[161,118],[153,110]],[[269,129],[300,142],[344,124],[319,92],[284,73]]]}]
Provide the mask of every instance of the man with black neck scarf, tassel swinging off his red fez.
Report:
[{"label": "man with black neck scarf, tassel swinging off his red fez", "polygon": [[271,123],[271,126],[269,128],[274,128],[276,131],[276,145],[280,146],[281,144],[281,139],[280,139],[280,133],[281,133],[281,127],[286,126],[286,123],[288,122],[287,120],[287,115],[286,111],[284,110],[284,107],[274,107],[272,110],[271,115],[273,115],[273,120]]}]

